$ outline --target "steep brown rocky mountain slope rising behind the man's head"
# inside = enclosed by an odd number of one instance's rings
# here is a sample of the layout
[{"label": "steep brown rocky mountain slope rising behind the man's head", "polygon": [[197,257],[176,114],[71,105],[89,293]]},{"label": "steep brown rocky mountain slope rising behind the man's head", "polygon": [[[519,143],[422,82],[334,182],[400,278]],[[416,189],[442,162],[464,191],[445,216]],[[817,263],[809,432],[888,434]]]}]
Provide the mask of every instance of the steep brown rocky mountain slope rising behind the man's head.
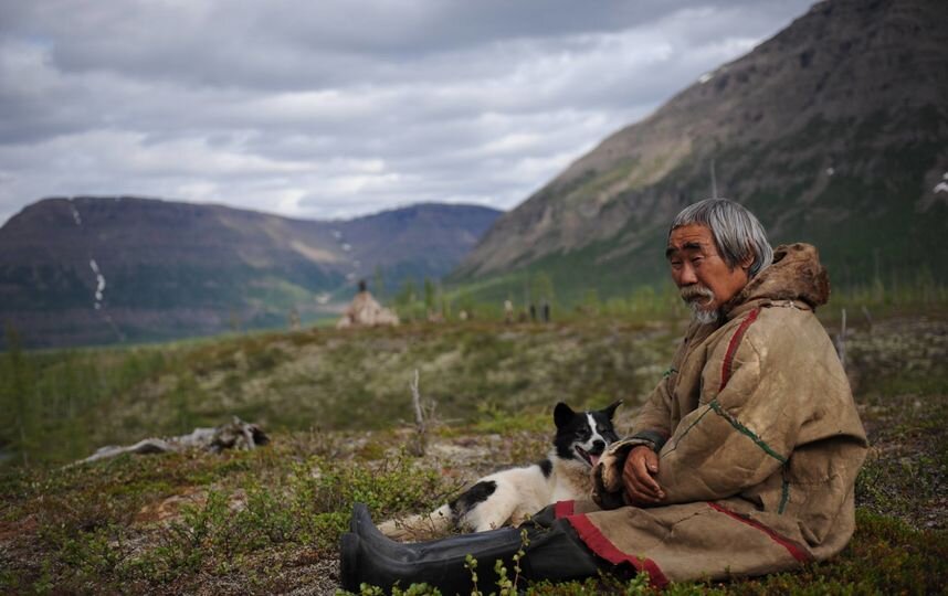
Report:
[{"label": "steep brown rocky mountain slope rising behind the man's head", "polygon": [[834,283],[948,278],[946,22],[941,1],[814,4],[499,217],[449,279],[654,284],[672,217],[713,181],[773,244],[815,244]]}]

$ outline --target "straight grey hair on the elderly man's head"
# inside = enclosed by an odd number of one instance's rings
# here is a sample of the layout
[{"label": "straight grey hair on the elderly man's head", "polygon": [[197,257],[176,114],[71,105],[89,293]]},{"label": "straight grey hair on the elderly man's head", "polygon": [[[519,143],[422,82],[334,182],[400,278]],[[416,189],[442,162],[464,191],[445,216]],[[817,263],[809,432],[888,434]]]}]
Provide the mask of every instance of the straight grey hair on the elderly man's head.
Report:
[{"label": "straight grey hair on the elderly man's head", "polygon": [[683,225],[698,224],[714,236],[715,246],[730,268],[754,255],[748,277],[754,277],[773,260],[773,248],[767,232],[754,213],[727,199],[705,199],[688,205],[672,222],[671,231]]}]

